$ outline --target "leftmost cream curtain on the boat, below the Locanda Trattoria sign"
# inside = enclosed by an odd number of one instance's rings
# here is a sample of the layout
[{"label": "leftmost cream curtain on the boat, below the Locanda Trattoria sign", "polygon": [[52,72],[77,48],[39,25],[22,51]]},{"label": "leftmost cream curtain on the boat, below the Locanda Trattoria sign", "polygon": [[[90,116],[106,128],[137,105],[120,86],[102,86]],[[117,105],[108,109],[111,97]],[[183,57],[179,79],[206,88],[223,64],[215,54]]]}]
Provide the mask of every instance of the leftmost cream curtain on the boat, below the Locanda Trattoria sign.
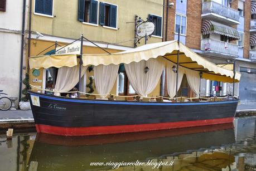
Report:
[{"label": "leftmost cream curtain on the boat, below the Locanda Trattoria sign", "polygon": [[[82,67],[81,77],[85,74],[87,66]],[[79,81],[79,66],[59,68],[56,79],[55,91],[70,91],[78,84]],[[85,76],[86,77],[86,76]],[[54,92],[54,95],[59,96],[60,92]]]}]

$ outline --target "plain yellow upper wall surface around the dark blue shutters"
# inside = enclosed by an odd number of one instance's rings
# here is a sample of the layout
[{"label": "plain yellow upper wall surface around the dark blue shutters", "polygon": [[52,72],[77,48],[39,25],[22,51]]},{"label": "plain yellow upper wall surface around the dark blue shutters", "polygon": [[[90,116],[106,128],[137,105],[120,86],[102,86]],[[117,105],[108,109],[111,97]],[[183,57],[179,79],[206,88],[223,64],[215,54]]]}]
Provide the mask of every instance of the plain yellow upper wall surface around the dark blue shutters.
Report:
[{"label": "plain yellow upper wall surface around the dark blue shutters", "polygon": [[[101,1],[101,0],[100,0]],[[81,33],[91,41],[117,43],[132,40],[134,38],[134,17],[137,14],[146,20],[148,14],[162,16],[162,0],[105,0],[118,6],[117,30],[104,28],[103,26],[86,25],[78,21],[78,1],[54,0],[54,17],[45,17],[32,13],[32,31],[43,35],[52,35],[65,38],[79,38]],[[32,11],[34,11],[32,1]],[[99,6],[99,4],[98,4]],[[99,19],[99,14],[98,14]],[[163,21],[162,21],[163,23]],[[151,37],[147,43],[161,42],[160,37]],[[133,47],[134,41],[118,43],[120,46]],[[144,44],[144,38],[141,44]],[[140,46],[138,45],[138,46]]]}]

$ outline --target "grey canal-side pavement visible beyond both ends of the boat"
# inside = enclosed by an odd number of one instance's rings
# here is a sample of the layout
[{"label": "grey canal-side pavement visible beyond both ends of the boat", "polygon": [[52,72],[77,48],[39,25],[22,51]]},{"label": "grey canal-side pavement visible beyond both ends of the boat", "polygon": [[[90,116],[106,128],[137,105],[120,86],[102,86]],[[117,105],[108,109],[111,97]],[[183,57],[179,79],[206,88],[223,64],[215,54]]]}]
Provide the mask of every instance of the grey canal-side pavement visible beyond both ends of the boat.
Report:
[{"label": "grey canal-side pavement visible beyond both ends of the boat", "polygon": [[[238,105],[236,117],[252,115],[256,115],[256,103]],[[33,126],[35,126],[35,121],[31,110],[0,110],[0,128]]]}]

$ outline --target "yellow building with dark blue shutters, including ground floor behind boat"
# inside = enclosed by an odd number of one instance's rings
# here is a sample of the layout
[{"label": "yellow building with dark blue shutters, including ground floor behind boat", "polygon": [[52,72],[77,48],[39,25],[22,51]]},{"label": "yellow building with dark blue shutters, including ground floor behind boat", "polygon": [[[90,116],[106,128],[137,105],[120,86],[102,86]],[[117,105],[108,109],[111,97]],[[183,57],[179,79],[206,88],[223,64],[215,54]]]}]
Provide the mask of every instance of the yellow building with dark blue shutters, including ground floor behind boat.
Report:
[{"label": "yellow building with dark blue shutters, including ground floor behind boat", "polygon": [[[67,0],[32,0],[31,2],[28,56],[54,53],[55,41],[57,47],[64,46],[80,38],[81,34],[110,53],[144,45],[144,38],[140,43],[135,40],[134,30],[136,23],[138,24],[135,22],[136,16],[137,21],[151,19],[155,25],[156,29],[147,43],[162,41],[162,0],[79,0],[72,3]],[[80,40],[75,43],[77,42],[79,43]],[[85,40],[83,45],[83,53],[106,53],[89,41]],[[82,91],[86,91],[85,85],[89,84],[91,75],[93,70],[88,70],[86,78],[82,79],[84,81]],[[30,70],[30,84],[41,89],[53,89],[55,80],[56,70]],[[152,94],[157,95],[159,92],[160,82]],[[93,93],[97,94],[95,87]],[[124,71],[119,72],[111,93],[122,95],[135,93]]]}]

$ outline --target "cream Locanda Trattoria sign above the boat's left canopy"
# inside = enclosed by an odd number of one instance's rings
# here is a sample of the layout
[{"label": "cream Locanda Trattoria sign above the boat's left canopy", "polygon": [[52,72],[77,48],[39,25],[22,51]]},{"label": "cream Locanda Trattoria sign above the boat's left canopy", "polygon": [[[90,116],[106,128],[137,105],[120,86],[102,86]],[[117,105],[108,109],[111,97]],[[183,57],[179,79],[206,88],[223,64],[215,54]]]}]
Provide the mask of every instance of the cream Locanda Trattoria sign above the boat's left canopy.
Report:
[{"label": "cream Locanda Trattoria sign above the boat's left canopy", "polygon": [[81,42],[78,43],[72,43],[67,46],[61,46],[56,48],[56,55],[63,55],[63,54],[80,54],[80,47],[81,47]]}]

